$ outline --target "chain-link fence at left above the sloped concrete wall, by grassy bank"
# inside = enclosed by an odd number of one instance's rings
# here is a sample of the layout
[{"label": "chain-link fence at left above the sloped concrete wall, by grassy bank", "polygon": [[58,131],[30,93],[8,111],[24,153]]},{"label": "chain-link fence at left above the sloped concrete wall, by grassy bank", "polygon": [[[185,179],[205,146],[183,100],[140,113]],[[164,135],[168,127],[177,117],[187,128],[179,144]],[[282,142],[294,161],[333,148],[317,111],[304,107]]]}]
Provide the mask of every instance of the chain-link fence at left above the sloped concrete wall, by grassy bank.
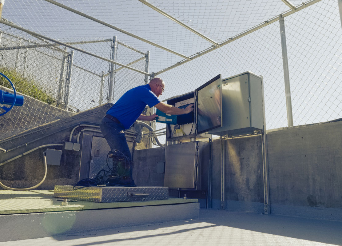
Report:
[{"label": "chain-link fence at left above the sloped concrete wall, by grassy bank", "polygon": [[[144,85],[145,75],[0,24],[0,71],[25,96],[23,107],[1,116],[1,139],[47,122],[114,103],[126,90]],[[114,37],[116,39],[116,37]],[[146,54],[110,39],[66,39],[82,50],[146,69]],[[111,84],[111,85],[110,85]],[[13,92],[0,79],[1,90]],[[111,86],[111,87],[110,87]],[[3,112],[3,109],[1,109]]]}]

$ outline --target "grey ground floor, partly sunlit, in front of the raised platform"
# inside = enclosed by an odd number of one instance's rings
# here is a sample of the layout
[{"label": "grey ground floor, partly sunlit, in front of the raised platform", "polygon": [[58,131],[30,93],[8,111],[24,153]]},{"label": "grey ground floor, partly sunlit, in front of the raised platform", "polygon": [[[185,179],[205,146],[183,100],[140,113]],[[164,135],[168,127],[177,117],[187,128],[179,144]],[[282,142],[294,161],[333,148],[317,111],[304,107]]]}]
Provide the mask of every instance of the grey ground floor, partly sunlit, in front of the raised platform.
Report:
[{"label": "grey ground floor, partly sunlit, in front of the raised platform", "polygon": [[200,209],[198,219],[69,233],[0,245],[327,246],[342,245],[341,231],[342,223],[337,221]]}]

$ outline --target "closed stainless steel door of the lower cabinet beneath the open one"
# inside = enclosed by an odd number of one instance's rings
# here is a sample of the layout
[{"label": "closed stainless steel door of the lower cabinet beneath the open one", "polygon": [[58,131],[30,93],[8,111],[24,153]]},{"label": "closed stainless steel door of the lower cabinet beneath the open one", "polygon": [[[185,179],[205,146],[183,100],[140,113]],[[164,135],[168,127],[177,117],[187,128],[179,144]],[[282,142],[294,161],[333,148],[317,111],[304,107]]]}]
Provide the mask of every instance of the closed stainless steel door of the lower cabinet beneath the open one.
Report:
[{"label": "closed stainless steel door of the lower cabinet beneath the open one", "polygon": [[164,186],[195,188],[197,175],[197,142],[166,147]]}]

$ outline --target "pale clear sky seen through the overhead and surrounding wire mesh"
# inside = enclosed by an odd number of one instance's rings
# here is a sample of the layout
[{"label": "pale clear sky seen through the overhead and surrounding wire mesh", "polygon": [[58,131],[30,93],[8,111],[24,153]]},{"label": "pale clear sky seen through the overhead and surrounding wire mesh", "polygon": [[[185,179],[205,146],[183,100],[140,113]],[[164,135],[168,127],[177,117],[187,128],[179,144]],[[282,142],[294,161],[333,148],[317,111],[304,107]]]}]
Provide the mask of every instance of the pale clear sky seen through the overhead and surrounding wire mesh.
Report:
[{"label": "pale clear sky seen through the overhead and surrounding wire mesh", "polygon": [[[137,0],[58,2],[187,56],[212,45]],[[289,9],[279,0],[149,2],[217,42],[234,37]],[[302,3],[297,0],[291,2],[295,6]],[[150,51],[150,73],[182,60],[180,56],[43,0],[6,1],[3,17],[63,42],[108,39],[115,35],[119,41],[129,46],[143,52]],[[341,118],[342,32],[337,1],[322,0],[287,16],[285,28],[294,125]],[[106,58],[110,56],[109,42],[75,46]],[[132,54],[121,49],[118,51],[117,61],[127,64],[140,57],[141,54]],[[96,74],[101,74],[102,71],[107,73],[109,69],[108,64],[85,55],[75,56],[75,64]],[[137,66],[144,69],[142,63]],[[167,83],[161,99],[193,91],[218,74],[227,78],[247,70],[264,78],[267,129],[286,127],[279,22],[160,74]],[[76,75],[77,73],[74,78],[74,85],[77,86],[74,89],[74,101],[79,100],[81,103],[75,103],[83,105],[83,108],[90,107],[92,98],[87,91],[98,91],[100,81],[93,76]],[[118,73],[116,77],[115,99],[125,90],[143,84],[143,80],[144,76],[122,69],[121,74]],[[86,96],[80,99],[80,95]],[[95,97],[98,95],[96,93]]]}]

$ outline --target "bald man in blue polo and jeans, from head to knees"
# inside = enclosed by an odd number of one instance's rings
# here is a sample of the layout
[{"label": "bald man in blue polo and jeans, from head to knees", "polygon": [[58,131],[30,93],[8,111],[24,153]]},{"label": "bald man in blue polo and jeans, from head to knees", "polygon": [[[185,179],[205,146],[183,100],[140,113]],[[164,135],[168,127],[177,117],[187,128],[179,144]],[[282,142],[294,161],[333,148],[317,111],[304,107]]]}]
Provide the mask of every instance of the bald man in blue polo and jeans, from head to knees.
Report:
[{"label": "bald man in blue polo and jeans, from head to knees", "polygon": [[135,87],[126,93],[107,111],[100,124],[103,137],[111,150],[119,150],[132,160],[124,130],[135,120],[153,121],[158,115],[143,115],[146,105],[156,107],[166,114],[181,115],[194,111],[194,105],[181,109],[161,102],[158,97],[164,92],[165,83],[160,78],[151,79],[148,85]]}]

